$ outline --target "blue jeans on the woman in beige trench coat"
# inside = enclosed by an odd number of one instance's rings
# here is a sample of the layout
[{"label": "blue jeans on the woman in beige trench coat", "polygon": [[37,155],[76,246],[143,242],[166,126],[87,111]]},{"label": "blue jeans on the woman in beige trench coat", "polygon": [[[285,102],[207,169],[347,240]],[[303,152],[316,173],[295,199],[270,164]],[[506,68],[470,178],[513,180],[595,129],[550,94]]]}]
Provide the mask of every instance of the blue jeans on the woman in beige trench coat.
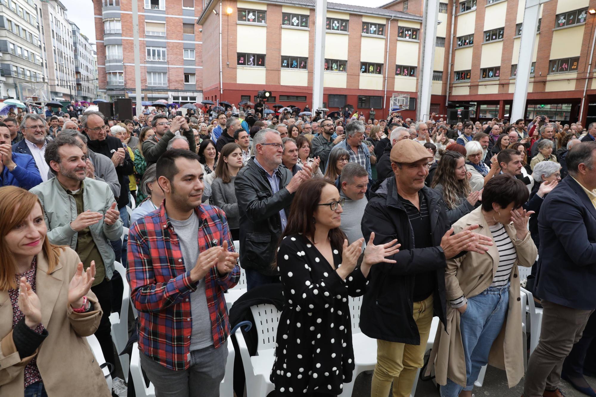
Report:
[{"label": "blue jeans on the woman in beige trench coat", "polygon": [[460,317],[461,342],[464,345],[465,387],[447,379],[440,387],[441,397],[457,397],[461,390],[472,390],[480,368],[488,363],[492,343],[501,332],[509,305],[509,288],[488,287],[468,298],[468,307]]}]

